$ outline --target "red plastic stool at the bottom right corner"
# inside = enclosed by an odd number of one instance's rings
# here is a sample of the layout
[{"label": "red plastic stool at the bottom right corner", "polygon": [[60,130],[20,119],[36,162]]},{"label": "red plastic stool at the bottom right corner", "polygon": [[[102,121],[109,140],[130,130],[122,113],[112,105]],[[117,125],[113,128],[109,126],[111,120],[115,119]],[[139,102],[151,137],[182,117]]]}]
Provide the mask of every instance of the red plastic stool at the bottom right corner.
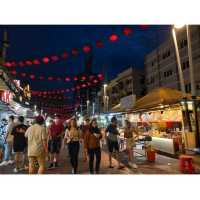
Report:
[{"label": "red plastic stool at the bottom right corner", "polygon": [[182,173],[188,172],[190,174],[193,174],[195,172],[195,168],[193,165],[193,157],[182,155],[179,157],[179,164],[180,164],[180,171]]}]

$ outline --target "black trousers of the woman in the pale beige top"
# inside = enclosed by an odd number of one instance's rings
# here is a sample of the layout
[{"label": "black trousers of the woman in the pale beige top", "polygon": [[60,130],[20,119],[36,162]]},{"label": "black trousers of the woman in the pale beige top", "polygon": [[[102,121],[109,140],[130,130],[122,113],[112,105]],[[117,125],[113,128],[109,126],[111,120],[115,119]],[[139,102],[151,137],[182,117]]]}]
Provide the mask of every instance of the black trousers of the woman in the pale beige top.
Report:
[{"label": "black trousers of the woman in the pale beige top", "polygon": [[70,162],[71,165],[74,169],[74,173],[77,173],[77,168],[78,168],[78,153],[80,149],[80,144],[79,142],[70,142],[68,144],[68,150],[69,150],[69,157],[70,157]]}]

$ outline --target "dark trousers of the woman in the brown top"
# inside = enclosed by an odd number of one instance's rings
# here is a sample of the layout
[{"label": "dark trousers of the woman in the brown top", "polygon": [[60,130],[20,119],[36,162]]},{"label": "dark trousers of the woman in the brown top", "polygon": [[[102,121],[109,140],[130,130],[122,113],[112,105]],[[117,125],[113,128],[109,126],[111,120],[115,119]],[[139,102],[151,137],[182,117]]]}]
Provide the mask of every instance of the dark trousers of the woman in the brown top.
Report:
[{"label": "dark trousers of the woman in the brown top", "polygon": [[96,149],[89,149],[88,150],[89,154],[89,168],[90,168],[90,173],[94,173],[94,157],[96,156],[96,166],[95,166],[95,171],[98,174],[99,173],[99,168],[100,168],[100,162],[101,162],[101,149],[96,148]]}]

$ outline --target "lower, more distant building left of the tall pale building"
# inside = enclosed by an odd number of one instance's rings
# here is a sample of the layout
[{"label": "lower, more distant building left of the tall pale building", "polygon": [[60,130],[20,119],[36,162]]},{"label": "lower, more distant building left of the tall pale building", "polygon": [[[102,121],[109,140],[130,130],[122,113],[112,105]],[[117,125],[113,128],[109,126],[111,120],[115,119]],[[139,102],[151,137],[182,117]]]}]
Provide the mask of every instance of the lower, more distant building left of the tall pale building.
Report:
[{"label": "lower, more distant building left of the tall pale building", "polygon": [[[128,68],[121,72],[111,80],[106,87],[106,93],[108,96],[108,109],[111,110],[112,107],[120,103],[121,98],[136,95],[136,97],[141,97],[145,94],[145,78],[144,72],[137,68]],[[99,93],[100,99],[100,112],[105,111],[104,101],[103,101],[104,89],[102,88]]]}]

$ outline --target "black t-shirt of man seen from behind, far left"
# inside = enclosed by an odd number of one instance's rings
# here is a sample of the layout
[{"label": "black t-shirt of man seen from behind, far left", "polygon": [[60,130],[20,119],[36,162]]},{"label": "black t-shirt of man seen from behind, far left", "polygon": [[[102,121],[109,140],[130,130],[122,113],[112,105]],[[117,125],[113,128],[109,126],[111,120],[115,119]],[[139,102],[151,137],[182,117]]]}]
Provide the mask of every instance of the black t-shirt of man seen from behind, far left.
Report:
[{"label": "black t-shirt of man seen from behind, far left", "polygon": [[15,126],[12,130],[13,137],[13,148],[14,151],[24,151],[27,146],[27,140],[25,138],[25,132],[27,126],[24,124],[19,124]]}]

